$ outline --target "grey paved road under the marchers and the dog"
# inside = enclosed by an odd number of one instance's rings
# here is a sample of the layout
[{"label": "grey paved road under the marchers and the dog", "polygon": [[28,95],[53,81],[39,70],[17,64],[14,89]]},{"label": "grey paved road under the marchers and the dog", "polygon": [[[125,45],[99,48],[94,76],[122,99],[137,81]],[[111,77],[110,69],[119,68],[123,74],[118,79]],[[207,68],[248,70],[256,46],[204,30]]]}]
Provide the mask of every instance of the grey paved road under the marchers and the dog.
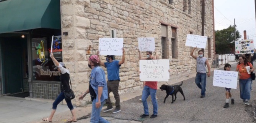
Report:
[{"label": "grey paved road under the marchers and the dog", "polygon": [[[236,65],[232,65],[232,71]],[[255,66],[254,66],[255,67]],[[223,68],[221,68],[223,69]],[[212,86],[213,72],[211,77],[207,77],[206,96],[200,98],[201,90],[194,82],[195,78],[185,80],[181,86],[186,97],[183,101],[183,96],[178,93],[176,101],[171,104],[171,96],[163,103],[166,96],[165,91],[157,90],[158,97],[158,117],[140,118],[143,114],[143,106],[139,101],[140,96],[121,103],[121,112],[118,114],[101,113],[103,117],[113,117],[124,120],[143,121],[143,123],[241,123],[253,122],[253,107],[255,106],[256,85],[253,82],[253,92],[251,92],[250,103],[253,106],[246,107],[240,99],[239,89],[232,89],[232,95],[235,99],[235,105],[231,105],[224,109],[225,104],[225,88]],[[179,82],[178,84],[181,84]],[[239,88],[239,87],[238,87]],[[150,115],[153,108],[150,98],[148,98]]]}]

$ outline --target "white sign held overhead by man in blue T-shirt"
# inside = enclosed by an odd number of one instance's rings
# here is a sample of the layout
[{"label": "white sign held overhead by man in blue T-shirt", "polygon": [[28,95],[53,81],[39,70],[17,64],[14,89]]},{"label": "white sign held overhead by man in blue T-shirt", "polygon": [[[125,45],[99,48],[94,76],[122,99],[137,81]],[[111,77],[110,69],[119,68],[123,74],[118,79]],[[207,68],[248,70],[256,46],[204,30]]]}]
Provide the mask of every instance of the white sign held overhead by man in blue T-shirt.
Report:
[{"label": "white sign held overhead by man in blue T-shirt", "polygon": [[123,38],[99,38],[100,55],[122,55]]}]

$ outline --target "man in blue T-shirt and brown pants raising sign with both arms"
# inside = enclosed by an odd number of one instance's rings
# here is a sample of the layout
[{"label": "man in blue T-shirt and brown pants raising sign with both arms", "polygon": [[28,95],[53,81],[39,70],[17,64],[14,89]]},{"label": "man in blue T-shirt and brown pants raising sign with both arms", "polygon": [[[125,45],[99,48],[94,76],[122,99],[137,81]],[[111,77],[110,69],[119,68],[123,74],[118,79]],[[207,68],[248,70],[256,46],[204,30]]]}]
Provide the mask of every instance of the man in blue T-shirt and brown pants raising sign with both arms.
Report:
[{"label": "man in blue T-shirt and brown pants raising sign with both arms", "polygon": [[[119,77],[119,68],[120,66],[124,63],[125,56],[124,56],[124,49],[123,50],[123,55],[122,55],[122,60],[118,61],[115,60],[114,55],[107,55],[106,60],[107,62],[103,63],[100,62],[100,65],[104,66],[107,68],[108,72],[108,99],[106,101],[106,104],[108,107],[106,109],[103,109],[103,112],[108,112],[110,110],[113,110],[113,106],[109,97],[109,93],[112,91],[114,98],[116,99],[116,109],[112,111],[112,113],[117,113],[121,111],[120,107],[120,97],[118,93],[118,87],[119,87],[119,82],[120,82],[120,77]],[[99,51],[97,53],[99,56]]]}]

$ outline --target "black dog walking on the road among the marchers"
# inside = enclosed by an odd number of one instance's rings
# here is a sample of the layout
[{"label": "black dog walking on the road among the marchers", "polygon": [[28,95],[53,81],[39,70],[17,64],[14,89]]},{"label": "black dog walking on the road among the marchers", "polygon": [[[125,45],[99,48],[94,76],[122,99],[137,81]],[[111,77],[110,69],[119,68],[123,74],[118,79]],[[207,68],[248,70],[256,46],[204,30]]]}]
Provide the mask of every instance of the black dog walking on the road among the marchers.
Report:
[{"label": "black dog walking on the road among the marchers", "polygon": [[[183,94],[183,90],[181,88],[181,85],[182,85],[183,81],[181,82],[180,85],[173,85],[173,86],[170,86],[170,85],[162,85],[160,87],[160,89],[163,91],[165,90],[166,91],[166,96],[165,96],[165,99],[168,98],[169,95],[172,96],[172,101],[171,103],[173,103],[173,101],[176,100],[176,94],[178,92],[181,92],[182,96],[184,97],[184,100],[185,100],[185,96]],[[173,100],[173,95],[175,96],[175,99]],[[165,103],[165,100],[163,101],[163,103]]]}]

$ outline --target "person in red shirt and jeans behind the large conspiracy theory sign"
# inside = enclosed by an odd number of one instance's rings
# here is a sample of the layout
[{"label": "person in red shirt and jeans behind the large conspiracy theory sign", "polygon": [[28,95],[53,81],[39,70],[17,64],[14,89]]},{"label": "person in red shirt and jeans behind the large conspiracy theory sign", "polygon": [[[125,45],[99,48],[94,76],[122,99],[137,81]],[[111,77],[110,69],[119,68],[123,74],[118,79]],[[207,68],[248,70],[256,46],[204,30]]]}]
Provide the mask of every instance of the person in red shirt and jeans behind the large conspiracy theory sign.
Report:
[{"label": "person in red shirt and jeans behind the large conspiracy theory sign", "polygon": [[[147,51],[147,57],[145,58],[141,58],[140,56],[140,51],[139,51],[139,60],[156,60],[156,57],[152,56],[152,52]],[[144,114],[140,115],[141,118],[145,118],[149,116],[149,112],[148,112],[148,103],[147,103],[147,98],[150,95],[151,96],[151,101],[153,104],[153,114],[150,116],[150,118],[155,118],[157,117],[157,110],[158,110],[158,106],[157,106],[157,82],[149,82],[146,81],[145,84],[143,82],[143,91],[142,91],[142,104],[144,107]]]}]

